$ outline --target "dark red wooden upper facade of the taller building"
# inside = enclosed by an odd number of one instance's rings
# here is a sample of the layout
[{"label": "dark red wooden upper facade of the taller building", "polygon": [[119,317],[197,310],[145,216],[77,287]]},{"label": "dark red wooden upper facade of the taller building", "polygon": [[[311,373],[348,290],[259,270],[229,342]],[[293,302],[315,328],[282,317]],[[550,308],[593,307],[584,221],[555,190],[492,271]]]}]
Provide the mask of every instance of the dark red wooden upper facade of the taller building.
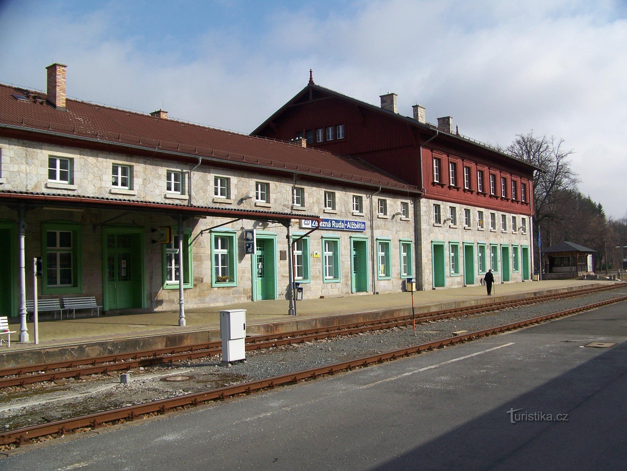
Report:
[{"label": "dark red wooden upper facade of the taller building", "polygon": [[[308,147],[359,157],[423,188],[424,198],[529,216],[533,211],[534,166],[313,83],[251,134],[281,140],[303,137]],[[421,169],[419,149],[427,140]],[[434,159],[440,164],[439,181],[434,177]],[[483,188],[478,188],[481,175]],[[495,194],[490,191],[490,176]]]}]

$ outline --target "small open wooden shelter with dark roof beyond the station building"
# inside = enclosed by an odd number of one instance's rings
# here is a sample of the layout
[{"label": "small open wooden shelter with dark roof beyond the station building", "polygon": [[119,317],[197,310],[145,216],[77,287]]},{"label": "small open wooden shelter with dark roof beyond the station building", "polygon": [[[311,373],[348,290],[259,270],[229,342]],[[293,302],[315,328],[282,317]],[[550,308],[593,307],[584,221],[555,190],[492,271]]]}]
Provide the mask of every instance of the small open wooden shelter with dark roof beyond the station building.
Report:
[{"label": "small open wooden shelter with dark roof beyond the station building", "polygon": [[574,242],[559,242],[541,250],[546,280],[560,280],[594,274],[596,250]]}]

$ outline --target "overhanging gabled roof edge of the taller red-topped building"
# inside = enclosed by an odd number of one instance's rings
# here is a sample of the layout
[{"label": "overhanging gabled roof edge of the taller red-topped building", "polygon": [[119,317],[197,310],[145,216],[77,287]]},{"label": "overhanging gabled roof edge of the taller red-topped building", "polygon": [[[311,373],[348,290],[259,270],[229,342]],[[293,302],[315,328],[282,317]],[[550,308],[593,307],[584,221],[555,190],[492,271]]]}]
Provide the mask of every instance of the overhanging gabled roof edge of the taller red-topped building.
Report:
[{"label": "overhanging gabled roof edge of the taller red-topped building", "polygon": [[517,162],[518,164],[522,164],[523,166],[527,166],[532,170],[542,170],[540,169],[540,167],[535,166],[534,164],[530,164],[529,162],[526,162],[524,160],[521,160],[517,157],[514,157],[510,154],[505,154],[505,152],[499,151],[498,149],[496,149],[495,147],[489,146],[488,144],[485,144],[483,142],[479,142],[478,140],[472,139],[471,137],[466,137],[465,135],[461,135],[461,134],[451,134],[449,132],[441,132],[438,131],[438,127],[436,125],[433,124],[429,124],[429,123],[421,123],[418,120],[415,120],[409,116],[403,116],[401,114],[398,113],[394,113],[392,111],[386,110],[384,108],[381,107],[377,107],[376,105],[372,105],[371,103],[366,103],[366,102],[362,102],[361,100],[357,100],[357,98],[352,98],[349,97],[347,95],[344,95],[342,93],[339,92],[335,92],[335,90],[331,90],[330,88],[325,88],[325,87],[320,87],[320,85],[315,85],[315,83],[308,83],[308,85],[303,88],[302,90],[300,90],[300,92],[298,92],[296,95],[294,95],[294,97],[289,100],[287,103],[285,103],[285,105],[283,105],[281,108],[279,108],[277,110],[277,112],[275,112],[273,115],[271,115],[268,119],[266,119],[260,126],[257,127],[257,129],[255,129],[253,132],[251,132],[251,135],[256,135],[259,132],[261,132],[261,130],[268,124],[270,124],[270,122],[272,122],[278,115],[282,114],[283,111],[285,111],[285,109],[287,109],[288,107],[290,107],[290,105],[292,105],[292,103],[294,103],[296,100],[298,100],[298,98],[302,97],[303,94],[307,93],[309,90],[317,90],[319,92],[322,93],[327,93],[328,95],[331,95],[332,97],[336,97],[336,98],[340,98],[340,100],[345,100],[347,102],[351,102],[351,103],[355,103],[361,107],[364,108],[368,108],[370,110],[373,110],[377,113],[381,113],[384,115],[387,115],[393,119],[398,119],[401,120],[403,122],[406,122],[408,124],[411,124],[415,127],[418,127],[420,129],[423,129],[427,132],[429,132],[430,134],[433,135],[438,135],[441,137],[445,137],[445,138],[450,138],[453,140],[458,140],[458,142],[464,142],[465,144],[470,144],[472,146],[477,146],[480,149],[482,149],[483,151],[488,151],[488,152],[492,152],[492,154],[496,154],[498,157],[504,158],[504,159],[508,159],[508,160],[512,160]]}]

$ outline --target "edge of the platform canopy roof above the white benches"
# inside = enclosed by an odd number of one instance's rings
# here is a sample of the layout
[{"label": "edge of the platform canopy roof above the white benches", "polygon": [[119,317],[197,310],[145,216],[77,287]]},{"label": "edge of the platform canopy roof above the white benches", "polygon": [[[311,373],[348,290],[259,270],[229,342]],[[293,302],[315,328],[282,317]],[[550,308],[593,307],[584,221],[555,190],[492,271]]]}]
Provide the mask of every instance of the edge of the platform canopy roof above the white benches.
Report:
[{"label": "edge of the platform canopy roof above the white benches", "polygon": [[213,214],[215,216],[233,216],[240,219],[253,219],[253,220],[317,220],[320,218],[317,216],[307,216],[300,214],[279,214],[279,213],[256,213],[255,211],[233,211],[230,209],[219,208],[199,208],[191,206],[179,206],[176,204],[161,204],[161,203],[145,203],[142,201],[114,201],[112,199],[92,199],[83,198],[82,196],[56,196],[56,195],[43,195],[43,194],[16,194],[16,193],[0,193],[0,198],[4,199],[21,199],[26,201],[37,201],[45,203],[83,203],[83,204],[96,204],[103,206],[124,206],[125,208],[137,208],[137,209],[169,209],[172,211],[196,214]]}]

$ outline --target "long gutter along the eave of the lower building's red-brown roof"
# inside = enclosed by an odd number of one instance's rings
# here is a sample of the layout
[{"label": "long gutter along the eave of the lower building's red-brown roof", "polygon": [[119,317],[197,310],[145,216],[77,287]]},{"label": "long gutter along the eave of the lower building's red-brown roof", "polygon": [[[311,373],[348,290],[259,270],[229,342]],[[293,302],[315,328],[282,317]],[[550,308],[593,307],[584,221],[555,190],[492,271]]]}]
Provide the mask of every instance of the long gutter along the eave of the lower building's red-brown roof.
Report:
[{"label": "long gutter along the eave of the lower building's red-brown roof", "polygon": [[[44,134],[44,135],[52,135],[55,137],[62,137],[65,139],[76,139],[76,140],[83,140],[86,142],[94,142],[97,144],[108,144],[109,146],[117,146],[117,147],[124,147],[125,149],[139,149],[141,151],[154,151],[154,152],[160,152],[161,154],[167,154],[169,156],[179,156],[179,157],[186,157],[187,159],[189,159],[190,157],[196,157],[199,158],[201,160],[206,160],[209,162],[214,162],[217,164],[234,164],[237,166],[242,166],[242,167],[248,167],[248,168],[253,168],[256,169],[257,171],[260,168],[263,169],[269,169],[275,172],[281,172],[281,173],[286,173],[286,174],[298,174],[298,175],[302,175],[303,177],[321,177],[327,180],[332,180],[332,181],[338,181],[341,183],[351,183],[354,184],[356,186],[361,186],[361,187],[366,187],[366,188],[379,188],[381,185],[380,184],[376,184],[376,183],[362,183],[359,181],[355,181],[355,180],[349,180],[349,179],[342,179],[339,177],[333,177],[333,176],[327,176],[327,175],[322,175],[320,174],[320,176],[317,176],[316,174],[312,174],[312,173],[307,173],[307,172],[301,172],[298,170],[292,170],[292,169],[280,169],[278,167],[268,167],[268,166],[264,166],[261,164],[249,164],[247,162],[237,162],[237,161],[226,161],[223,159],[218,159],[216,157],[207,157],[207,156],[196,156],[194,154],[184,154],[182,152],[174,152],[174,151],[166,151],[163,149],[159,149],[159,148],[155,148],[155,147],[142,147],[142,146],[133,146],[132,144],[122,144],[119,142],[111,142],[108,140],[99,140],[99,139],[91,139],[90,137],[82,137],[82,136],[73,136],[73,135],[68,135],[68,134],[62,134],[60,132],[54,132],[54,131],[45,131],[45,130],[41,130],[41,129],[36,129],[36,128],[31,128],[31,127],[21,127],[21,126],[12,126],[12,125],[8,125],[8,124],[0,124],[0,129],[1,128],[5,128],[5,129],[14,129],[14,130],[19,130],[19,131],[29,131],[29,132],[34,132],[36,134]],[[386,188],[389,191],[394,191],[394,192],[398,192],[398,193],[402,193],[402,194],[406,194],[406,193],[420,193],[419,190],[413,190],[413,189],[408,189],[408,188],[397,188],[394,186],[383,186],[384,188]]]}]

